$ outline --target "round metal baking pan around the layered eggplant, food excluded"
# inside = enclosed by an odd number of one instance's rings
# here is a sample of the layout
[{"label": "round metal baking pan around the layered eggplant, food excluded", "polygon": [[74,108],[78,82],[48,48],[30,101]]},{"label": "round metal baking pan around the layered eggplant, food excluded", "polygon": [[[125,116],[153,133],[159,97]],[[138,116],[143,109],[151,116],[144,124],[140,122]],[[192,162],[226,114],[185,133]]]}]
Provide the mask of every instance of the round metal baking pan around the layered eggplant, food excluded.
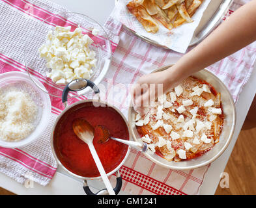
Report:
[{"label": "round metal baking pan around the layered eggplant, food excluded", "polygon": [[[170,66],[165,66],[154,72],[166,70],[169,67]],[[188,161],[179,161],[179,162],[170,161],[169,162],[156,154],[149,155],[148,153],[145,153],[145,155],[151,161],[156,162],[156,164],[164,166],[165,168],[171,168],[175,170],[190,170],[194,168],[199,168],[201,166],[205,166],[206,164],[209,164],[210,162],[215,161],[225,151],[234,133],[235,123],[236,123],[236,108],[235,108],[235,103],[233,101],[233,98],[229,93],[229,90],[227,89],[227,87],[221,82],[221,80],[218,77],[216,77],[216,75],[209,72],[208,70],[201,70],[199,72],[193,73],[193,76],[199,79],[203,79],[207,83],[210,83],[210,85],[214,86],[217,92],[221,93],[221,102],[222,102],[225,118],[223,123],[223,130],[220,135],[220,142],[215,144],[214,147],[210,149],[210,151],[207,151],[205,154],[201,155],[200,157],[196,157],[195,159],[191,159]],[[132,130],[132,136],[134,137],[134,140],[137,140],[137,138],[141,138],[141,136],[137,132],[137,128],[135,127],[135,122],[132,120],[132,118],[134,118],[133,117],[134,114],[135,114],[134,108],[131,107],[130,105],[129,118],[128,118],[129,125]]]}]

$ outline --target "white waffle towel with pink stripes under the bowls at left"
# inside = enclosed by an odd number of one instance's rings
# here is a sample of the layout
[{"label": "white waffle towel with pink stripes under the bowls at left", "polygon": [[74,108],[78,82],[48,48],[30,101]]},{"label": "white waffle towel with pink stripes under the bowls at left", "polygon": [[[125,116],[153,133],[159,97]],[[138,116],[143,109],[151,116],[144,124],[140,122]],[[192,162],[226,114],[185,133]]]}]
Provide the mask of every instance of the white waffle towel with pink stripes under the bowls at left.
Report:
[{"label": "white waffle towel with pink stripes under the bowls at left", "polygon": [[[0,73],[20,71],[27,73],[23,64],[23,53],[28,43],[27,31],[30,25],[38,25],[38,22],[53,14],[68,12],[59,5],[50,1],[26,1],[26,0],[1,0],[0,1]],[[57,22],[54,22],[57,21]],[[63,18],[55,18],[51,24],[65,21]],[[111,40],[112,50],[115,51],[119,42],[119,28],[113,28],[111,23],[115,21],[109,18],[105,29]],[[72,22],[64,22],[66,26]],[[39,29],[48,30],[50,23],[40,25]],[[120,25],[121,27],[121,25]],[[29,40],[31,47],[38,48],[36,40]],[[61,95],[62,90],[57,85],[52,85],[46,77],[37,70],[31,68],[35,77],[43,83],[48,92]],[[84,96],[69,100],[69,103],[86,99]],[[20,183],[27,179],[47,185],[57,170],[57,162],[53,158],[50,146],[50,136],[53,123],[64,106],[60,98],[51,97],[51,119],[49,125],[38,140],[23,148],[8,149],[0,147],[0,171],[12,177]]]}]

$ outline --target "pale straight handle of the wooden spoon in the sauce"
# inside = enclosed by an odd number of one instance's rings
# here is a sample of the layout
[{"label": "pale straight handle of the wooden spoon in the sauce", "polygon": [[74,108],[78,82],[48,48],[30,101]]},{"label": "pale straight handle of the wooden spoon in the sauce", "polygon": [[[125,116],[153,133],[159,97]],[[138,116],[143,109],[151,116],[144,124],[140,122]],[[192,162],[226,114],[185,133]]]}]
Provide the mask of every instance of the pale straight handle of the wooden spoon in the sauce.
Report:
[{"label": "pale straight handle of the wooden spoon in the sauce", "polygon": [[115,192],[113,190],[113,187],[111,186],[111,183],[109,182],[109,179],[107,177],[107,174],[102,166],[102,162],[100,162],[100,158],[98,157],[98,154],[92,144],[92,142],[87,143],[89,146],[89,149],[91,151],[92,157],[96,163],[96,166],[98,168],[98,171],[100,172],[100,175],[102,176],[103,182],[106,185],[107,191],[109,192],[109,195],[115,195]]}]

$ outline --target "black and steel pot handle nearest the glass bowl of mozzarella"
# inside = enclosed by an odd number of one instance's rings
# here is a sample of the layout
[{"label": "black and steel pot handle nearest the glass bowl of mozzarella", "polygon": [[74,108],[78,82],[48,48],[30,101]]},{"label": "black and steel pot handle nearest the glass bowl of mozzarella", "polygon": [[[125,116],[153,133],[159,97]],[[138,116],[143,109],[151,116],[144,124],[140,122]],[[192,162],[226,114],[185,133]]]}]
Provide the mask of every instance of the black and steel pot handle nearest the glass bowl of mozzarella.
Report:
[{"label": "black and steel pot handle nearest the glass bowl of mozzarella", "polygon": [[84,90],[85,88],[87,88],[87,86],[90,86],[95,94],[100,93],[98,86],[96,86],[89,79],[75,79],[70,83],[68,83],[68,85],[65,86],[63,90],[63,95],[62,95],[62,102],[64,103],[65,107],[67,106],[68,92],[70,91],[76,92],[76,91]]}]

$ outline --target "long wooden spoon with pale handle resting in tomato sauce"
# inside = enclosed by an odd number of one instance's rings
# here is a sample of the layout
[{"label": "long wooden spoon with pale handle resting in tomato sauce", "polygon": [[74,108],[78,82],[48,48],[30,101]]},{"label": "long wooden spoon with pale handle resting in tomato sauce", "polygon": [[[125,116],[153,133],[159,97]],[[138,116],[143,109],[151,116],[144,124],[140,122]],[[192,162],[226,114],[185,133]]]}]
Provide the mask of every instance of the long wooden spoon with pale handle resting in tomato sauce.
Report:
[{"label": "long wooden spoon with pale handle resting in tomato sauce", "polygon": [[98,154],[96,153],[96,150],[92,144],[92,140],[94,138],[94,128],[86,120],[78,118],[73,122],[73,130],[74,133],[78,136],[78,138],[80,138],[81,140],[83,140],[83,142],[88,144],[92,157],[96,163],[100,175],[102,176],[103,182],[106,185],[109,195],[115,195],[115,191],[113,190],[113,187],[109,182],[107,174],[102,166],[102,162],[100,162],[100,158],[98,157]]}]

